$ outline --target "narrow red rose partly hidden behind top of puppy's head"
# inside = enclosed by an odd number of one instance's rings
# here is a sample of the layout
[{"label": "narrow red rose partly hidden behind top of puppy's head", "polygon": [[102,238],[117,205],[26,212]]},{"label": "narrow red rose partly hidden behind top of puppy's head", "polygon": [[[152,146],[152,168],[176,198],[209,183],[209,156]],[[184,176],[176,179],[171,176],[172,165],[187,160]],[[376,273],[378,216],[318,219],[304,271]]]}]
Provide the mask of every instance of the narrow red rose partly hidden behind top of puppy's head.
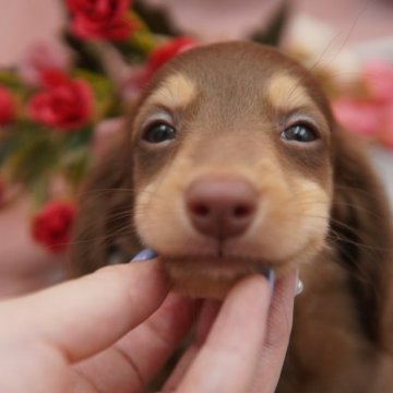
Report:
[{"label": "narrow red rose partly hidden behind top of puppy's head", "polygon": [[190,37],[178,37],[155,48],[148,56],[147,67],[152,72],[157,71],[164,63],[175,56],[191,49],[196,41]]}]

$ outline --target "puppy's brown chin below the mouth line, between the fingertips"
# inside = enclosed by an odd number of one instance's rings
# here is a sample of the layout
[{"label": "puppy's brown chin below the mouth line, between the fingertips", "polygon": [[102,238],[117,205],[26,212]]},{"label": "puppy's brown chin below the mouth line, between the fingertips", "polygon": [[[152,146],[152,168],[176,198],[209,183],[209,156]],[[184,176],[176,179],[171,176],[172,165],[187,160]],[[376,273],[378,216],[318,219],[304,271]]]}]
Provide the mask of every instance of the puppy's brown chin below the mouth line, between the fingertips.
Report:
[{"label": "puppy's brown chin below the mouth line, between the fingertips", "polygon": [[222,300],[240,278],[258,273],[254,266],[235,265],[225,260],[162,260],[172,289],[194,298]]}]

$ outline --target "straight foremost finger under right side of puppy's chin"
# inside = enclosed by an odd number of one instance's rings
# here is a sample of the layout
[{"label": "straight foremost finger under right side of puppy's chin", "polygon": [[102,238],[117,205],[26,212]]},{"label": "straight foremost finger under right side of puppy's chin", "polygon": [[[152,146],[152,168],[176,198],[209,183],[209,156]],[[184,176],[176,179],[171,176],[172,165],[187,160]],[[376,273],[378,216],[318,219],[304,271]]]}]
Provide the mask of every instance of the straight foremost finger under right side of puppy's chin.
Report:
[{"label": "straight foremost finger under right side of puppy's chin", "polygon": [[249,391],[265,338],[270,298],[270,285],[262,276],[235,285],[179,392]]}]

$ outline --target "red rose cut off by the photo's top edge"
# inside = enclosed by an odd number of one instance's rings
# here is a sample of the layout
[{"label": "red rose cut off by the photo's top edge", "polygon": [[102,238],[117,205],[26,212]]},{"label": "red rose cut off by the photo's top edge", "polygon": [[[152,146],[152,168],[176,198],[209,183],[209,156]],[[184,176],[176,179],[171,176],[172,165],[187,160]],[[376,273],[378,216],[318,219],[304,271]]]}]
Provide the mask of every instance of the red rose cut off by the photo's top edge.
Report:
[{"label": "red rose cut off by the photo's top edge", "polygon": [[71,29],[81,38],[123,40],[134,29],[130,0],[67,0],[73,13]]}]

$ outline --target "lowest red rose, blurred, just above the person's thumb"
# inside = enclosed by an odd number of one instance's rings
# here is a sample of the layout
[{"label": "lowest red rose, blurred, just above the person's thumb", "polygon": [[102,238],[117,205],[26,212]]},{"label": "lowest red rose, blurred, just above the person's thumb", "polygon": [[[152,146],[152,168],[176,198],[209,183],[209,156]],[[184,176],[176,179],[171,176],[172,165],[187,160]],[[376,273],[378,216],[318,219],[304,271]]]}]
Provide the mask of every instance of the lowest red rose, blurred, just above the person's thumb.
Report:
[{"label": "lowest red rose, blurred, just above the person's thumb", "polygon": [[62,251],[70,242],[74,217],[75,206],[72,203],[48,203],[33,218],[33,238],[50,251]]}]

